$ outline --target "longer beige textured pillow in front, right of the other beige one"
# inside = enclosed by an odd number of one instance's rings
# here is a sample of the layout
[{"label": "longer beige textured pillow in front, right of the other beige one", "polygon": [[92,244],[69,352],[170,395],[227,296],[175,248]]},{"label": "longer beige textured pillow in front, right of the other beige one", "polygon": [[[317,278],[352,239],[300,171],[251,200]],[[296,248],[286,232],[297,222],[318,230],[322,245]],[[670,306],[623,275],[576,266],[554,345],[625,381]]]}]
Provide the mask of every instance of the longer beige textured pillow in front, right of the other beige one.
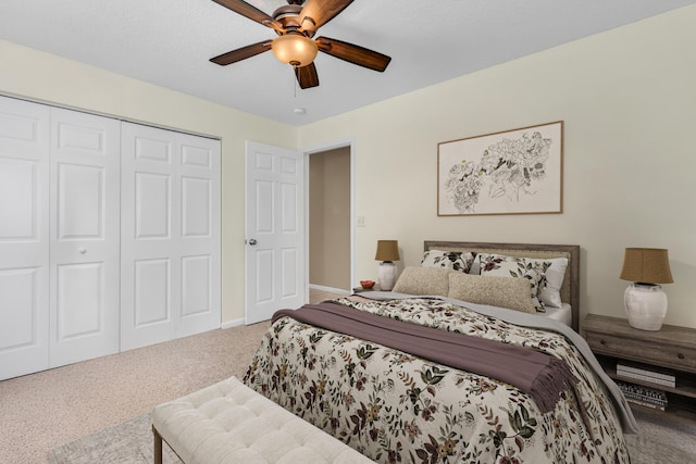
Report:
[{"label": "longer beige textured pillow in front, right of the other beige one", "polygon": [[535,313],[532,285],[525,278],[449,274],[449,298]]}]

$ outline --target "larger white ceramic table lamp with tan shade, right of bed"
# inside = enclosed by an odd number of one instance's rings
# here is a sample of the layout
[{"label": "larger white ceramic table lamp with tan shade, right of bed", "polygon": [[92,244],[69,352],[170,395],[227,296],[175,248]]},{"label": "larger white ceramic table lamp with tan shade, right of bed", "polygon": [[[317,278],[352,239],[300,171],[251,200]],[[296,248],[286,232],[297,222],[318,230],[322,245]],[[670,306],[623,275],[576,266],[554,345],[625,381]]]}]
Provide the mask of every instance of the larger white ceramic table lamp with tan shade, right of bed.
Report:
[{"label": "larger white ceramic table lamp with tan shade, right of bed", "polygon": [[633,284],[623,293],[629,324],[641,330],[659,330],[667,314],[667,293],[659,284],[671,284],[667,250],[626,248],[622,280]]}]

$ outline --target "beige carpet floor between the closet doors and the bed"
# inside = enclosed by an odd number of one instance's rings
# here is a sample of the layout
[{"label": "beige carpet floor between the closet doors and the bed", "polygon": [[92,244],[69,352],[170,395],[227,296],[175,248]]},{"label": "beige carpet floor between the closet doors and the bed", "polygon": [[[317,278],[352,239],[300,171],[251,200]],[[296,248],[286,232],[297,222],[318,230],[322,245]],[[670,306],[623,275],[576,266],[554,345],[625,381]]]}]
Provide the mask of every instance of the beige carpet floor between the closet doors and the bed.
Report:
[{"label": "beige carpet floor between the closet doors and the bed", "polygon": [[211,330],[0,381],[0,464],[46,463],[57,446],[244,376],[268,328]]}]

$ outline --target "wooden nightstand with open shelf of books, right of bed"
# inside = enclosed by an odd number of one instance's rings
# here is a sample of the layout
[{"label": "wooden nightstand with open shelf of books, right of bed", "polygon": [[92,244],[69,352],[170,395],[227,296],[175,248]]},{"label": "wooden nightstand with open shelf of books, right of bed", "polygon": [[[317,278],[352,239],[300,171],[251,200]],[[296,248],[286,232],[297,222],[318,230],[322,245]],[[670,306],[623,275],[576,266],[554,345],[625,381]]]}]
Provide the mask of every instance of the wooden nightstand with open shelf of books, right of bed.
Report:
[{"label": "wooden nightstand with open shelf of books, right of bed", "polygon": [[696,329],[663,325],[646,331],[623,318],[588,314],[581,333],[610,377],[657,390],[667,398],[666,414],[696,419]]}]

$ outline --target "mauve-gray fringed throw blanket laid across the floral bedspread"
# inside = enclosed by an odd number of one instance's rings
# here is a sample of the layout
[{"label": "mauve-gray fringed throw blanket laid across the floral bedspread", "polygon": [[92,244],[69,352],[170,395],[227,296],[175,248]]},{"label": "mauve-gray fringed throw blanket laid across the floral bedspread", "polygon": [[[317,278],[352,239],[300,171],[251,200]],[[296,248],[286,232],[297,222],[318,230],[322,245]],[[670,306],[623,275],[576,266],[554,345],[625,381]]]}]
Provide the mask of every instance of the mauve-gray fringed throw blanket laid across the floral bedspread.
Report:
[{"label": "mauve-gray fringed throw blanket laid across the floral bedspread", "polygon": [[522,347],[381,317],[336,303],[281,310],[281,317],[373,341],[450,367],[510,384],[527,393],[543,413],[577,384],[563,360]]}]

